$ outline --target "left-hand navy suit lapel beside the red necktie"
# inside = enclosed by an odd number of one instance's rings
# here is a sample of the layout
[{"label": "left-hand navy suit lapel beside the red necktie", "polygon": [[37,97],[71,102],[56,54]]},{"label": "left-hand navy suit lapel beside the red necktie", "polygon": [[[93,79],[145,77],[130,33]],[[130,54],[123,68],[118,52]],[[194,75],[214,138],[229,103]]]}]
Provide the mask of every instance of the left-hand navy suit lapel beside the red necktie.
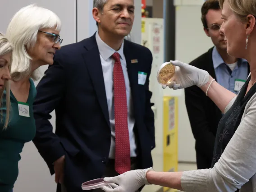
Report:
[{"label": "left-hand navy suit lapel beside the red necktie", "polygon": [[101,66],[99,49],[96,43],[95,35],[88,39],[85,48],[84,61],[86,63],[92,84],[96,91],[96,96],[101,105],[104,117],[110,127],[109,110],[105,91],[104,77]]}]

